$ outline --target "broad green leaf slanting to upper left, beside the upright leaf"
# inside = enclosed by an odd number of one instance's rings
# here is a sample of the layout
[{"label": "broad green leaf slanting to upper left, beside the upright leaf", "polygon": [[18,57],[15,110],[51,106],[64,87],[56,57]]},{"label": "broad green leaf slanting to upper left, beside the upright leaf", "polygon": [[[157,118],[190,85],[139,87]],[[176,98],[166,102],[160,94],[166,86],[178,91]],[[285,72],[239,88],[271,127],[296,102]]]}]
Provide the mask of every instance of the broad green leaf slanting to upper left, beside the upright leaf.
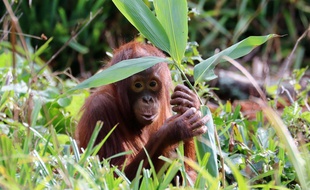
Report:
[{"label": "broad green leaf slanting to upper left, beside the upright leaf", "polygon": [[156,47],[170,53],[167,34],[151,10],[142,0],[113,0],[127,20]]}]

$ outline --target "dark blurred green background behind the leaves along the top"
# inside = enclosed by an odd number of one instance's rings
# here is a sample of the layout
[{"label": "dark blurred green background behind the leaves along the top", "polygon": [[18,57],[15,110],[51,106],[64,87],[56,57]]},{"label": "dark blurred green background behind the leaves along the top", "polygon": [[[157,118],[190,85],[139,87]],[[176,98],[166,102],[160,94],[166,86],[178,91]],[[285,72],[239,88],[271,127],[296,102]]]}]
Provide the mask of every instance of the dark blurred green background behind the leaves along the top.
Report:
[{"label": "dark blurred green background behind the leaves along the top", "polygon": [[[107,62],[106,52],[112,52],[113,48],[139,35],[109,0],[17,0],[11,4],[23,33],[54,37],[50,50],[42,56],[44,60],[49,60],[102,9],[50,65],[54,71],[70,67],[74,76],[90,76]],[[275,33],[285,36],[256,49],[244,59],[250,63],[258,56],[275,70],[287,58],[310,22],[308,0],[189,0],[188,4],[189,41],[199,44],[198,50],[204,59],[213,55],[215,50],[225,49],[248,36]],[[9,27],[3,3],[0,16],[2,29]],[[0,40],[3,40],[7,34],[1,31]],[[28,40],[32,47],[44,43],[34,38]],[[306,40],[301,41],[293,64],[294,68],[310,64],[310,45]]]}]

